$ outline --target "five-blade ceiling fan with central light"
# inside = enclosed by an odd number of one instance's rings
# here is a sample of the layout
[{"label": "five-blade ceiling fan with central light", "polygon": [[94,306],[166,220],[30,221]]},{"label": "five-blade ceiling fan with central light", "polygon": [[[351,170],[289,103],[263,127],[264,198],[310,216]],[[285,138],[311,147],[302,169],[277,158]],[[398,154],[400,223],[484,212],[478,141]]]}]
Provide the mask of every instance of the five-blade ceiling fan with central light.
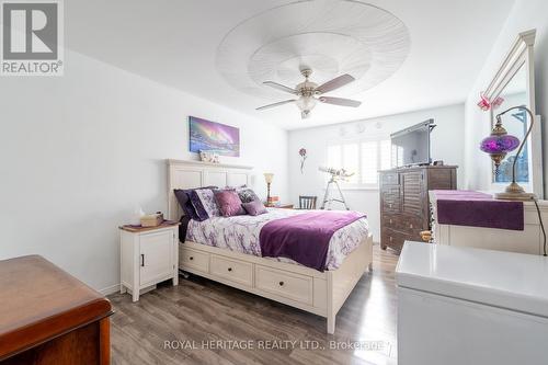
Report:
[{"label": "five-blade ceiling fan with central light", "polygon": [[[333,105],[340,105],[340,106],[351,106],[351,107],[358,107],[362,102],[357,100],[351,100],[351,99],[343,99],[343,98],[333,98],[333,96],[322,96],[326,92],[333,91],[335,89],[342,88],[347,83],[351,83],[355,79],[350,76],[349,73],[341,75],[336,78],[334,78],[331,81],[328,81],[321,85],[318,85],[315,82],[311,82],[308,80],[310,75],[312,73],[312,70],[308,67],[304,67],[300,69],[300,73],[305,77],[305,82],[301,82],[295,87],[295,89],[288,88],[286,85],[283,85],[281,83],[274,82],[274,81],[264,81],[263,83],[277,89],[282,90],[285,92],[288,92],[290,94],[299,96],[298,99],[289,99],[285,100],[282,102],[277,102],[274,104],[269,104],[264,105],[261,107],[258,107],[258,111],[262,111],[265,109],[271,109],[288,103],[295,103],[300,110],[300,117],[302,119],[308,118],[310,116],[311,110],[316,106],[318,101],[321,103],[326,104],[333,104]],[[317,95],[320,95],[319,98],[316,98]]]}]

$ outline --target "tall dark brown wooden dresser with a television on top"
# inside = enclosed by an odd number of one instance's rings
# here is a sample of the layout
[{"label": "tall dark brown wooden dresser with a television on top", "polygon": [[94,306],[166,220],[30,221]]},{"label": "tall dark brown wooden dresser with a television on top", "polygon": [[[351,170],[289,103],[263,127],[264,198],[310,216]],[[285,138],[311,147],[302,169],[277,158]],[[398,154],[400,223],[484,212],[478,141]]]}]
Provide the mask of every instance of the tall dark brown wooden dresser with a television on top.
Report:
[{"label": "tall dark brown wooden dresser with a television on top", "polygon": [[379,171],[380,247],[400,251],[406,240],[421,241],[430,229],[430,190],[457,189],[456,166]]}]

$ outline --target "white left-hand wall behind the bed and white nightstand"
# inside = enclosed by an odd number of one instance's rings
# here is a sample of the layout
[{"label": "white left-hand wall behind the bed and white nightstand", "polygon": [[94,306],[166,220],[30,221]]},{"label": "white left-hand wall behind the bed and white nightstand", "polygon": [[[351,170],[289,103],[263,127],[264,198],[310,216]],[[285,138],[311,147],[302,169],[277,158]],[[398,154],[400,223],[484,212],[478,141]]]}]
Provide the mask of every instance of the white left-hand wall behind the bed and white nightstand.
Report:
[{"label": "white left-hand wall behind the bed and white nightstand", "polygon": [[117,226],[167,210],[164,159],[189,153],[187,116],[240,128],[241,158],[287,196],[287,133],[78,53],[65,77],[0,78],[0,258],[38,253],[98,289],[119,282]]}]

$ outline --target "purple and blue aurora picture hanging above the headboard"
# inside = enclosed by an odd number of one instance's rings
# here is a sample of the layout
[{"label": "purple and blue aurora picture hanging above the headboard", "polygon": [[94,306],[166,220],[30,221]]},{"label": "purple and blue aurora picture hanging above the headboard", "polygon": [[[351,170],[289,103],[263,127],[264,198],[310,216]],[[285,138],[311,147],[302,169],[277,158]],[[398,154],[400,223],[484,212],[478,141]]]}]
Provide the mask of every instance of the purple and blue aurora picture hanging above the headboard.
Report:
[{"label": "purple and blue aurora picture hanging above the headboard", "polygon": [[195,116],[189,117],[190,150],[240,156],[240,129]]}]

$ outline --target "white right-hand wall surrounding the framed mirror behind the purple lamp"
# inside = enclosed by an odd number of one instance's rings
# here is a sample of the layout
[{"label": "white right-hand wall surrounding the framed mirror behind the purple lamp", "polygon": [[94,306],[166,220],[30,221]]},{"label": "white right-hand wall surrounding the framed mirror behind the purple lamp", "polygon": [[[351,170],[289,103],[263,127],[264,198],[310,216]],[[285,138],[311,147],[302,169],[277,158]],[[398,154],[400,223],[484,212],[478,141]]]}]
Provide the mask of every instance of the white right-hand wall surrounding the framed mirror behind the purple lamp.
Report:
[{"label": "white right-hand wall surrounding the framed mirror behind the purple lamp", "polygon": [[[541,115],[544,124],[548,117],[548,2],[546,0],[516,0],[509,18],[496,39],[483,69],[478,75],[475,87],[466,101],[465,123],[465,186],[475,190],[489,190],[491,162],[489,157],[478,149],[479,142],[490,133],[489,113],[482,112],[477,103],[479,94],[486,90],[492,77],[501,66],[504,57],[518,33],[530,28],[537,30],[535,42],[535,83],[536,113]],[[544,181],[545,195],[548,179],[548,129],[543,127],[544,145]]]}]

